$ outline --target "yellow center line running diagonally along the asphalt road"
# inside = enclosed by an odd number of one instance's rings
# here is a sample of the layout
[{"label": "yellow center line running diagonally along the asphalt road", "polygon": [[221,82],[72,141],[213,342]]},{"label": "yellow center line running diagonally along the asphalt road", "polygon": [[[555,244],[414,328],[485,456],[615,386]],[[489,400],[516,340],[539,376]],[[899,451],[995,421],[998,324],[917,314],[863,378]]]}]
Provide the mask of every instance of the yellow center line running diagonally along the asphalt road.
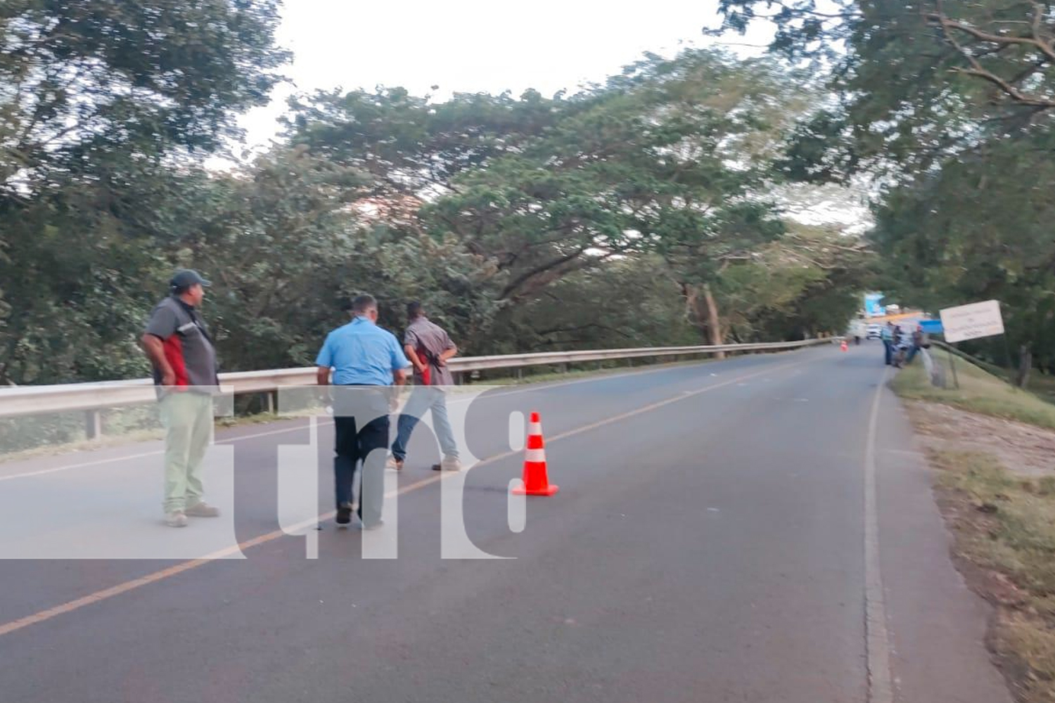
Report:
[{"label": "yellow center line running diagonally along the asphalt road", "polygon": [[[568,430],[565,432],[560,432],[558,434],[554,434],[554,435],[552,435],[548,440],[548,442],[550,444],[552,444],[554,442],[559,442],[560,440],[565,440],[568,437],[572,437],[572,436],[575,436],[577,434],[581,434],[583,432],[589,432],[591,430],[595,430],[595,429],[597,429],[599,427],[605,427],[606,425],[611,425],[612,423],[618,423],[620,421],[628,419],[630,417],[634,417],[636,415],[640,415],[640,414],[644,414],[646,412],[651,412],[653,410],[657,410],[659,408],[663,408],[665,406],[671,405],[673,403],[678,403],[680,401],[685,401],[685,399],[688,399],[690,397],[694,397],[694,396],[699,395],[702,393],[707,393],[708,391],[712,391],[712,390],[715,390],[715,389],[718,389],[718,388],[724,388],[726,386],[730,386],[732,384],[741,383],[741,382],[747,380],[748,378],[753,378],[755,376],[761,376],[761,375],[764,375],[764,374],[767,374],[767,373],[775,373],[778,371],[789,369],[789,368],[792,368],[792,367],[795,367],[795,366],[802,366],[803,364],[806,364],[806,363],[808,363],[808,362],[793,362],[791,364],[783,364],[781,366],[769,367],[769,368],[762,369],[760,371],[754,371],[752,373],[748,373],[748,374],[744,374],[744,375],[741,375],[741,376],[736,376],[734,378],[730,378],[728,380],[723,380],[721,383],[711,384],[709,386],[705,386],[704,388],[699,388],[699,389],[696,389],[694,391],[683,391],[678,395],[666,398],[664,401],[658,401],[656,403],[652,403],[650,405],[647,405],[647,406],[644,406],[644,407],[640,407],[640,408],[636,408],[636,409],[630,410],[628,412],[622,412],[622,413],[619,413],[617,415],[612,415],[611,417],[606,417],[603,419],[599,419],[599,421],[597,421],[595,423],[590,423],[589,425],[583,425],[581,427],[577,427],[575,429],[571,429],[571,430]],[[479,468],[481,466],[486,466],[488,464],[494,464],[494,463],[499,462],[499,461],[501,461],[503,458],[509,458],[511,456],[515,456],[515,455],[517,455],[519,453],[520,453],[520,450],[505,451],[505,452],[501,452],[501,453],[498,453],[498,454],[494,454],[492,456],[487,456],[486,458],[480,460],[479,462],[477,462],[476,464],[474,464],[471,467],[471,469]],[[386,492],[385,493],[385,497],[394,497],[396,495],[403,495],[404,493],[409,493],[411,491],[420,490],[422,488],[425,488],[426,486],[430,486],[430,485],[439,483],[439,482],[441,482],[441,481],[443,481],[443,480],[445,480],[445,479],[447,479],[449,476],[453,476],[457,472],[454,472],[454,471],[450,471],[450,472],[441,472],[441,473],[439,473],[437,475],[429,476],[428,479],[422,479],[421,481],[417,481],[417,482],[415,482],[413,484],[409,484],[409,485],[404,486],[402,488],[399,488],[397,490]],[[279,529],[279,530],[274,530],[272,532],[268,532],[266,534],[261,534],[261,535],[255,536],[255,538],[253,538],[251,540],[246,540],[245,542],[239,542],[238,544],[231,545],[230,547],[225,547],[224,549],[219,549],[219,550],[214,551],[212,553],[206,554],[205,556],[199,556],[198,559],[192,559],[190,561],[183,562],[180,564],[176,564],[174,566],[170,566],[170,567],[160,569],[158,571],[154,571],[153,573],[149,573],[149,574],[147,574],[145,577],[140,577],[139,579],[132,579],[130,581],[126,581],[124,583],[117,584],[116,586],[111,586],[110,588],[104,588],[102,590],[97,590],[97,591],[95,591],[93,593],[89,593],[88,595],[84,595],[82,598],[78,598],[78,599],[75,599],[73,601],[69,601],[66,603],[63,603],[62,605],[57,605],[57,606],[55,606],[53,608],[49,608],[46,610],[41,610],[39,612],[35,612],[32,616],[26,616],[25,618],[20,618],[18,620],[13,620],[11,622],[7,622],[7,623],[4,623],[4,624],[0,625],[0,637],[3,637],[5,634],[11,634],[12,632],[14,632],[16,630],[20,630],[20,629],[22,629],[24,627],[28,627],[31,625],[37,625],[39,623],[52,620],[53,618],[57,618],[57,617],[59,617],[61,614],[65,614],[68,612],[73,612],[74,610],[79,610],[80,608],[83,608],[85,606],[89,606],[89,605],[92,605],[92,604],[95,604],[95,603],[99,603],[100,601],[106,601],[106,600],[114,598],[116,595],[120,595],[121,593],[127,593],[127,592],[129,592],[131,590],[135,590],[136,588],[141,588],[142,586],[148,586],[150,584],[157,583],[158,581],[164,581],[165,579],[170,579],[172,577],[178,575],[178,574],[184,573],[186,571],[190,571],[191,569],[196,569],[199,566],[205,566],[206,564],[209,564],[209,563],[214,562],[216,560],[225,559],[227,556],[231,556],[233,554],[237,554],[237,553],[243,552],[243,551],[245,551],[247,549],[251,549],[252,547],[256,547],[256,546],[260,546],[262,544],[267,544],[268,542],[273,542],[273,541],[277,540],[279,538],[288,536],[292,532],[296,532],[299,530],[307,529],[309,527],[315,527],[319,523],[323,523],[323,522],[326,522],[328,520],[332,520],[335,514],[337,514],[335,510],[334,511],[330,511],[330,512],[326,512],[326,513],[318,515],[316,518],[313,518],[313,519],[310,519],[310,520],[305,520],[305,521],[303,521],[301,523],[298,523],[296,525],[291,525],[290,527],[287,527],[286,529]]]}]

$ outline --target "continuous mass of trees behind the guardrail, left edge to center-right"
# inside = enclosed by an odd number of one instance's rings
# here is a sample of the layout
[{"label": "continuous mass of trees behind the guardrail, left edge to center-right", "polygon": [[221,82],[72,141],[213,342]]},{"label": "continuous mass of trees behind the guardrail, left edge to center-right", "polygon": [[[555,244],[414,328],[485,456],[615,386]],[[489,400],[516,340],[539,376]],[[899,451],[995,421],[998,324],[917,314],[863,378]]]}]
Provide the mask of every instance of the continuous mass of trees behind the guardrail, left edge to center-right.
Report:
[{"label": "continuous mass of trees behind the guardrail, left edge to center-right", "polygon": [[803,336],[853,313],[867,249],[774,195],[818,97],[803,76],[691,50],[574,95],[299,95],[270,151],[210,172],[281,79],[276,9],[0,11],[0,383],[143,373],[135,339],[177,266],[215,282],[227,370],[310,364],[361,292],[395,330],[422,300],[464,353]]}]

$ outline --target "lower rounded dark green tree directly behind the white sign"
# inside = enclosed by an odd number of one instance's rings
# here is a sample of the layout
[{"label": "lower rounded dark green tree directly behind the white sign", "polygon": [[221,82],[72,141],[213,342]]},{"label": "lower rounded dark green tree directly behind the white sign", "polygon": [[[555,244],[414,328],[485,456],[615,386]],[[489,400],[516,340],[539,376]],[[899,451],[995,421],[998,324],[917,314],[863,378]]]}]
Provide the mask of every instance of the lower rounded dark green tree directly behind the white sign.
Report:
[{"label": "lower rounded dark green tree directly behind the white sign", "polygon": [[[1025,345],[1055,372],[1055,135],[1002,140],[921,176],[877,210],[891,291],[929,310],[996,298],[1006,340],[974,345],[1000,364]],[[1029,173],[1024,180],[1017,176]]]}]

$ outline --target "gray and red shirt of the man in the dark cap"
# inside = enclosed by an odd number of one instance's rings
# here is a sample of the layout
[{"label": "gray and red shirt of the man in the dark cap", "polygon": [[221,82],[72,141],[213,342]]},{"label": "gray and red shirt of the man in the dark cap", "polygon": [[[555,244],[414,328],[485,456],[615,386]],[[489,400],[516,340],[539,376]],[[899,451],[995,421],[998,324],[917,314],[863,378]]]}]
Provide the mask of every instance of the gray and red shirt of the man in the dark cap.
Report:
[{"label": "gray and red shirt of the man in the dark cap", "polygon": [[[212,392],[219,386],[216,375],[216,350],[209,328],[194,308],[169,296],[157,304],[147,321],[147,334],[165,345],[165,358],[176,374],[177,387],[199,387]],[[154,384],[161,385],[161,371],[154,369]]]}]

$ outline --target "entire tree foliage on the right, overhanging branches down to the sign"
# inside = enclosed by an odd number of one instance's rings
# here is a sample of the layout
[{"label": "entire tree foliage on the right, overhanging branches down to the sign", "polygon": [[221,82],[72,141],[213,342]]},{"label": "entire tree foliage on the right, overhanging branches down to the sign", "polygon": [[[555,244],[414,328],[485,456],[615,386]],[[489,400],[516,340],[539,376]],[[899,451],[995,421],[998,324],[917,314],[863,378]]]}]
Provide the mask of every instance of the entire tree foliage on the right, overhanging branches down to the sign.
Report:
[{"label": "entire tree foliage on the right, overhanging branches down to the sign", "polygon": [[1055,14],[1033,0],[887,3],[724,0],[713,33],[775,26],[771,56],[825,66],[831,99],[804,119],[782,171],[876,184],[884,290],[932,311],[1003,304],[1011,363],[1055,372]]}]

